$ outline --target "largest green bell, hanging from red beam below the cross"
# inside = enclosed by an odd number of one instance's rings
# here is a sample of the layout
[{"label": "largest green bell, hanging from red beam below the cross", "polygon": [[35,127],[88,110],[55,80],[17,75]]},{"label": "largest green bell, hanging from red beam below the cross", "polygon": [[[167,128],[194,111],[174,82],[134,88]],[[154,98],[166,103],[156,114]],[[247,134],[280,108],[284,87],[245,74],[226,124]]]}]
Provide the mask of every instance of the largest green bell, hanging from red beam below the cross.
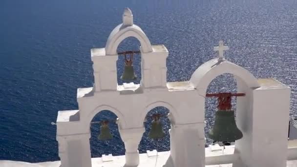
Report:
[{"label": "largest green bell, hanging from red beam below the cross", "polygon": [[217,142],[231,142],[242,138],[242,132],[237,128],[233,110],[218,110],[209,138]]}]

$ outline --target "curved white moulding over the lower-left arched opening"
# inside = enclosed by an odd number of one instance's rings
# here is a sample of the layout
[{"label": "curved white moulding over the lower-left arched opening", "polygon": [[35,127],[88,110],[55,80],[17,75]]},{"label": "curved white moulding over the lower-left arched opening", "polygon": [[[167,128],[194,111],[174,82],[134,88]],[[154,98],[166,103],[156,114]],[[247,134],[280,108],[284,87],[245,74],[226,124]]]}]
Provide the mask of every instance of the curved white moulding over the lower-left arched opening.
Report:
[{"label": "curved white moulding over the lower-left arched opening", "polygon": [[89,125],[91,123],[92,119],[95,117],[95,115],[103,110],[109,110],[109,111],[113,112],[119,118],[119,125],[121,125],[121,127],[126,127],[127,123],[126,123],[124,115],[119,110],[117,110],[116,108],[114,108],[110,105],[97,106],[92,112],[90,112],[88,114],[87,124]]}]

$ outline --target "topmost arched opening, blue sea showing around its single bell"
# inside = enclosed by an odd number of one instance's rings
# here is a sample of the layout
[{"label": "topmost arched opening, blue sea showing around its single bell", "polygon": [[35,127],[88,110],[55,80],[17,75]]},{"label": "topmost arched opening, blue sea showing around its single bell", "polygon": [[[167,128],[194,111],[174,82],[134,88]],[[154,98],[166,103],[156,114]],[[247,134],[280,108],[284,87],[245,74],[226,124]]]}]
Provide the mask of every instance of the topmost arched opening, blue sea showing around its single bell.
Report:
[{"label": "topmost arched opening, blue sea showing around its single bell", "polygon": [[[125,51],[139,51],[140,49],[140,42],[135,37],[128,37],[125,40],[123,40],[118,48],[117,53],[125,52]],[[127,54],[127,60],[130,59],[131,54]],[[117,61],[117,81],[118,84],[121,85],[123,83],[130,83],[133,82],[134,84],[139,84],[141,81],[141,54],[140,53],[134,53],[133,59],[132,59],[132,65],[134,69],[134,73],[136,75],[135,80],[131,81],[125,81],[122,80],[121,77],[123,73],[125,72],[125,56],[123,54],[119,55],[119,59]],[[126,71],[128,72],[128,71]]]}]

